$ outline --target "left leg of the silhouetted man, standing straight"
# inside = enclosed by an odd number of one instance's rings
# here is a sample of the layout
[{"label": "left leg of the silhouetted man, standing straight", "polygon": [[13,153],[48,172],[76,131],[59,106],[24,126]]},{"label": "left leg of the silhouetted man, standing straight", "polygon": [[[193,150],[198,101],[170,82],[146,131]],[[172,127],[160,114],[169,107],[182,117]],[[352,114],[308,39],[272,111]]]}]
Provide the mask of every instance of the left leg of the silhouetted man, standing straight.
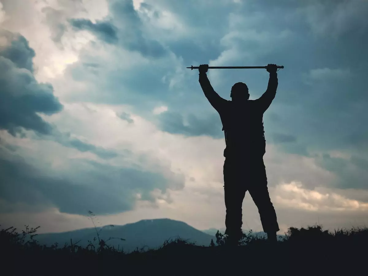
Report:
[{"label": "left leg of the silhouetted man, standing straight", "polygon": [[236,243],[242,236],[242,205],[245,192],[243,178],[240,174],[240,163],[226,159],[224,163],[224,192],[226,206],[226,231],[229,240]]}]

